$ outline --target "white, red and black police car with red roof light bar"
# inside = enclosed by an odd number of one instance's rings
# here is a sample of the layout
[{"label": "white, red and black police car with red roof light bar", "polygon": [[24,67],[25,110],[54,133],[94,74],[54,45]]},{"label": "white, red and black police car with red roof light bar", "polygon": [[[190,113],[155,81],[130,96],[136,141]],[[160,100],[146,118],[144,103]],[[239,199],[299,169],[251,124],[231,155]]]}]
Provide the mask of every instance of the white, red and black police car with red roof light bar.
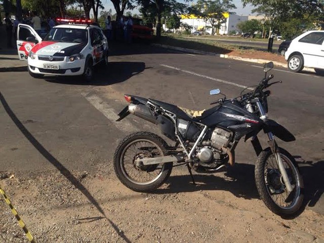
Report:
[{"label": "white, red and black police car with red roof light bar", "polygon": [[19,24],[19,59],[28,62],[28,72],[32,77],[42,78],[48,74],[83,75],[87,81],[91,81],[94,65],[108,65],[105,35],[90,20],[57,21],[66,21],[68,24],[53,27],[44,39],[31,26]]}]

